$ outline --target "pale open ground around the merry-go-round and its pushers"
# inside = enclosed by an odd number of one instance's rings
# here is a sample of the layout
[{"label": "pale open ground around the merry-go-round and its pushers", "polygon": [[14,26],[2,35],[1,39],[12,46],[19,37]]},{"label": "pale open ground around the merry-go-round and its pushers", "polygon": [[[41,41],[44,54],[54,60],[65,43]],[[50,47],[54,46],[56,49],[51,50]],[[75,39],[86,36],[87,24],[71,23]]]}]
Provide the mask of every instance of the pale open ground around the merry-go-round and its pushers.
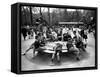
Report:
[{"label": "pale open ground around the merry-go-round and its pushers", "polygon": [[[51,54],[41,53],[33,58],[32,50],[27,55],[21,57],[22,70],[43,70],[56,68],[75,68],[95,66],[95,40],[92,34],[88,35],[87,52],[81,52],[80,61],[77,61],[75,55],[64,53],[61,56],[61,65],[50,65]],[[34,42],[34,39],[24,41],[22,39],[22,53]]]}]

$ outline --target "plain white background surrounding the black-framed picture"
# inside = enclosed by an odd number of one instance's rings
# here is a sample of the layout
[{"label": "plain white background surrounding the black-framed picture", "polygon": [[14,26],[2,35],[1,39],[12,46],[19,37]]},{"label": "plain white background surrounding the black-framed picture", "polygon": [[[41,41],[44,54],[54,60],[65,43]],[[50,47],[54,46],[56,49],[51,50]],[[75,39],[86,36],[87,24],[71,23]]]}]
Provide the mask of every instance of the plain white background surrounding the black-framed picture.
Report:
[{"label": "plain white background surrounding the black-framed picture", "polygon": [[[94,6],[98,7],[100,13],[100,0],[1,0],[0,2],[0,77],[98,77],[100,69],[98,70],[86,70],[86,71],[70,71],[70,72],[58,72],[58,73],[38,73],[28,75],[15,75],[10,72],[10,48],[11,48],[11,7],[10,5],[15,2],[30,2],[30,3],[44,3],[44,4],[60,4],[60,5],[75,5],[75,6]],[[98,13],[98,14],[99,14]],[[98,21],[100,20],[100,14],[98,15]],[[98,29],[100,22],[98,22]],[[98,31],[100,32],[100,31]],[[100,39],[100,35],[98,36]],[[98,44],[99,44],[98,40]],[[98,49],[98,51],[100,48]],[[100,53],[98,52],[98,58],[100,59]],[[100,61],[99,61],[100,67]]]}]

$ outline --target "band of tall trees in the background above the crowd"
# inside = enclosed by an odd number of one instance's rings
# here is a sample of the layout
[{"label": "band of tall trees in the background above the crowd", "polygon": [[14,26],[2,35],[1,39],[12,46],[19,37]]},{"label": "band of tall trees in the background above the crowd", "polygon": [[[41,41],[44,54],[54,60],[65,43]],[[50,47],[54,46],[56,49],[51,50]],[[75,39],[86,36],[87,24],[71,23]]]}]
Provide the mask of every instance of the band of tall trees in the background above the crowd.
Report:
[{"label": "band of tall trees in the background above the crowd", "polygon": [[68,11],[62,8],[48,7],[21,7],[21,24],[36,25],[37,20],[41,19],[47,25],[55,25],[58,22],[91,22],[91,17],[95,18],[95,12],[92,10],[75,9]]}]

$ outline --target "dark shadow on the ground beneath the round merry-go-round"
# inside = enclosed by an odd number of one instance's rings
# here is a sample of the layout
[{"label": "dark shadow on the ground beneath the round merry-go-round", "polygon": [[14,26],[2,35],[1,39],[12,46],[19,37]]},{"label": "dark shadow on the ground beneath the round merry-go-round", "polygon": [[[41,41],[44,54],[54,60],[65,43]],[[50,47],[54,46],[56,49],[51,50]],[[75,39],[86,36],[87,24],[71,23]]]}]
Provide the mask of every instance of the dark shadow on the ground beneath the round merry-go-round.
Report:
[{"label": "dark shadow on the ground beneath the round merry-go-round", "polygon": [[[32,57],[31,53],[25,55],[26,59],[31,63],[35,63],[37,65],[48,65],[51,61],[51,54],[48,53],[39,53],[36,57]],[[80,53],[80,61],[87,59],[89,57],[89,53],[82,51]],[[61,63],[76,63],[79,62],[76,60],[76,55],[73,53],[62,53],[61,54]]]}]

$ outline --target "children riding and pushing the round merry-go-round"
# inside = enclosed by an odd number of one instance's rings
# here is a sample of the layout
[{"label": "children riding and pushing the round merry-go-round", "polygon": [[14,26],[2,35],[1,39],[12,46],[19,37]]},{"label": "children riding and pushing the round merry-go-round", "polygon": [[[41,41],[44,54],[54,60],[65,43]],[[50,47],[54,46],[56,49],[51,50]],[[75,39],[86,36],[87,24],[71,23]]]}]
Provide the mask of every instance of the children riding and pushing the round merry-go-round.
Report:
[{"label": "children riding and pushing the round merry-go-round", "polygon": [[[65,41],[66,42],[66,50],[68,52],[73,51],[76,54],[76,59],[80,60],[79,54],[80,51],[86,51],[86,43],[84,44],[83,39],[87,40],[87,34],[85,34],[84,30],[74,31],[72,29],[59,29],[58,31],[54,31],[53,29],[48,30],[47,32],[37,32],[35,36],[35,42],[25,51],[23,55],[33,49],[33,56],[35,56],[36,51],[41,51],[41,46],[45,46],[47,42],[55,42],[55,41]],[[44,34],[45,33],[45,34]],[[45,36],[44,36],[45,35]],[[61,53],[63,45],[57,43],[53,48],[55,53],[52,54],[51,62],[54,63],[55,57],[57,57],[57,62],[61,63]]]}]

